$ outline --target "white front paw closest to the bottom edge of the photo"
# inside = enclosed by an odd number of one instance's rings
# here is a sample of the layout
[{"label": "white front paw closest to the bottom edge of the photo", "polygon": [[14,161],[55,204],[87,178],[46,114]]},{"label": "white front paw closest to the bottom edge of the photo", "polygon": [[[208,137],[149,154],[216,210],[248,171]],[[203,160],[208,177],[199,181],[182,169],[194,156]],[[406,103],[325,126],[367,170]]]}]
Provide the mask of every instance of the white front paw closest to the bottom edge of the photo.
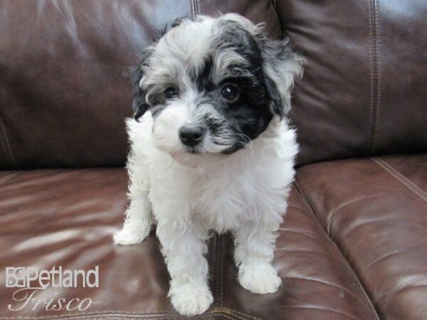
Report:
[{"label": "white front paw closest to the bottom edge of the photo", "polygon": [[171,297],[172,305],[176,311],[185,316],[203,314],[214,301],[209,288],[203,282],[199,284],[189,282],[178,285],[171,284],[168,296]]}]

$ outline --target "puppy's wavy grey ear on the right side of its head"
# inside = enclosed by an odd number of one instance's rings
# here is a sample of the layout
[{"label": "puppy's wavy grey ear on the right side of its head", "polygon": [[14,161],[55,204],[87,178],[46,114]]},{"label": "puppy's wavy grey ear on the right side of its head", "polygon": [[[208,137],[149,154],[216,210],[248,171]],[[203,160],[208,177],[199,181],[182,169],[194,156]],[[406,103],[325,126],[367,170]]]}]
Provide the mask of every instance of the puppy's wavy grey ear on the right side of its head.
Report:
[{"label": "puppy's wavy grey ear on the right side of its head", "polygon": [[258,35],[265,87],[275,114],[283,117],[290,110],[290,91],[295,78],[302,76],[305,59],[298,55],[289,43],[289,39],[270,40]]}]

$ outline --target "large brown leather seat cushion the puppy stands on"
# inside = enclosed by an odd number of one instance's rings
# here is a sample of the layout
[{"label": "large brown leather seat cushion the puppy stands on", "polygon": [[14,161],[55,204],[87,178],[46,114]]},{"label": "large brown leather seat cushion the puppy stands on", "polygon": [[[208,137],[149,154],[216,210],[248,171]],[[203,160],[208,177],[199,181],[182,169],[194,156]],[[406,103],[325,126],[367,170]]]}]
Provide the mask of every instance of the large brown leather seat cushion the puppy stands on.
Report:
[{"label": "large brown leather seat cushion the puppy stands on", "polygon": [[[5,267],[96,265],[99,288],[49,288],[45,297],[90,297],[98,304],[85,313],[93,317],[181,318],[167,298],[169,276],[156,235],[133,246],[112,242],[127,205],[123,169],[3,171],[0,183],[0,319],[77,314],[8,311],[8,304],[17,305],[15,288],[5,289]],[[261,296],[238,284],[230,236],[214,235],[207,259],[215,301],[203,319],[376,319],[351,267],[295,188],[277,247],[273,265],[283,285]]]}]

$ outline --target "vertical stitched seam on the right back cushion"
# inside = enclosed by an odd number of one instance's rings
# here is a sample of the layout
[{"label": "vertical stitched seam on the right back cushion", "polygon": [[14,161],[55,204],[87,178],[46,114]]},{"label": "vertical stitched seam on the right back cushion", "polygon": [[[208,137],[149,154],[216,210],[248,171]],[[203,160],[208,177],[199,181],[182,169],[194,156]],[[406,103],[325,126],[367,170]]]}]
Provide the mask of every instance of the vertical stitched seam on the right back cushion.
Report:
[{"label": "vertical stitched seam on the right back cushion", "polygon": [[374,154],[380,104],[379,0],[369,1],[369,36],[371,47],[370,119],[368,154]]}]

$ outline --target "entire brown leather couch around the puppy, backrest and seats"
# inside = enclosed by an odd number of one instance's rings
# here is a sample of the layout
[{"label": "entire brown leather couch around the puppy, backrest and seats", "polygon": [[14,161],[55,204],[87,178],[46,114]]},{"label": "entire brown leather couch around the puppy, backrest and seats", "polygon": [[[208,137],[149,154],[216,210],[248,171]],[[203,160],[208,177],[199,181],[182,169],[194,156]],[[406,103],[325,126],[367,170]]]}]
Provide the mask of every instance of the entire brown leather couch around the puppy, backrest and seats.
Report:
[{"label": "entire brown leather couch around the puppy, backrest and seats", "polygon": [[[0,0],[0,319],[185,319],[155,234],[112,243],[127,206],[126,70],[168,21],[216,11],[265,21],[307,66],[283,285],[243,289],[230,236],[214,235],[214,304],[195,318],[427,319],[423,0]],[[59,266],[98,266],[99,287],[6,287],[6,267]],[[60,298],[96,304],[53,310]]]}]

